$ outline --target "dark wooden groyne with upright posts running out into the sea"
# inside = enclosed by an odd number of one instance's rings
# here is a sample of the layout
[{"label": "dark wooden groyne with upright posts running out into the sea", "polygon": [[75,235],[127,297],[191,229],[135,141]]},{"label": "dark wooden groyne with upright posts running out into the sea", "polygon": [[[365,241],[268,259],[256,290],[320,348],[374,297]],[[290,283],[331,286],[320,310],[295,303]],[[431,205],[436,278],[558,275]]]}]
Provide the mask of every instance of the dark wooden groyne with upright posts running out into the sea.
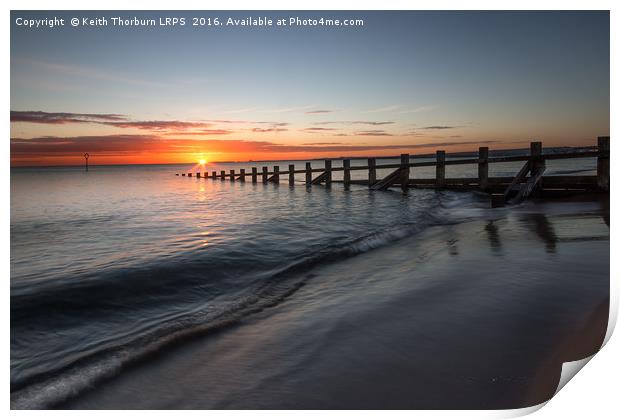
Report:
[{"label": "dark wooden groyne with upright posts running out into the sea", "polygon": [[[494,207],[506,204],[517,204],[532,195],[556,196],[572,193],[598,192],[609,193],[609,137],[599,137],[598,144],[587,148],[589,150],[572,151],[566,153],[543,153],[541,142],[530,143],[530,153],[518,156],[490,157],[488,147],[478,149],[478,157],[467,159],[446,159],[446,152],[438,150],[434,161],[412,162],[411,155],[402,154],[399,163],[377,164],[377,159],[367,158],[367,164],[351,166],[348,158],[342,160],[342,167],[333,167],[332,160],[326,159],[323,168],[312,168],[311,162],[306,162],[303,169],[296,169],[294,164],[288,165],[287,170],[280,170],[278,165],[262,168],[252,167],[249,171],[235,169],[229,171],[216,171],[181,173],[177,176],[196,176],[205,179],[229,180],[231,182],[252,183],[280,183],[281,177],[288,178],[288,184],[295,185],[295,174],[305,175],[305,185],[331,186],[333,182],[343,183],[345,189],[351,185],[366,185],[372,190],[387,190],[389,188],[433,188],[452,190],[475,190],[489,194]],[[567,175],[567,176],[544,176],[546,161],[559,159],[597,158],[596,175]],[[354,158],[359,160],[360,158]],[[385,158],[384,158],[385,159]],[[513,177],[490,177],[489,165],[504,162],[524,162],[524,165]],[[446,178],[446,166],[451,165],[478,165],[478,176],[475,178]],[[435,178],[412,178],[415,168],[435,167]],[[382,179],[377,178],[377,170],[392,169]],[[352,171],[366,171],[368,178],[365,180],[351,179]],[[334,172],[343,172],[342,180],[332,179]]]}]

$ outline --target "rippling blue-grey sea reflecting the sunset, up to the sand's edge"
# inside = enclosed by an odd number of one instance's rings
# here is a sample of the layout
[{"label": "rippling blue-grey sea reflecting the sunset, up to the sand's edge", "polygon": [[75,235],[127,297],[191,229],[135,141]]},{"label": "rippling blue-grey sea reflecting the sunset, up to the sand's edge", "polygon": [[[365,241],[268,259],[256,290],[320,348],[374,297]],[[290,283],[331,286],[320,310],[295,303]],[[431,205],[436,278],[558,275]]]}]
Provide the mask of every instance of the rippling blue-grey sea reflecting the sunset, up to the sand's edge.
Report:
[{"label": "rippling blue-grey sea reflecting the sunset, up to the sand's edge", "polygon": [[[595,162],[579,164],[588,173]],[[550,169],[575,168],[562,165]],[[472,193],[174,176],[190,169],[12,170],[14,405],[54,404],[171,340],[274,305],[317,267],[477,220],[488,207]]]}]

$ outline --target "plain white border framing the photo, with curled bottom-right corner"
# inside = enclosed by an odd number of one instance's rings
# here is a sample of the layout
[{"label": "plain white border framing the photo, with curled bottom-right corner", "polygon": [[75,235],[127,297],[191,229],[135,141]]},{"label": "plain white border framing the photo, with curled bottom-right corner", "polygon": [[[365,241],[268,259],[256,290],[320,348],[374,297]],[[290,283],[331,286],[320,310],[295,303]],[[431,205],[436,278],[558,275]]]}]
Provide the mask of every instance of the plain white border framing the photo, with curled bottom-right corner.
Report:
[{"label": "plain white border framing the photo, with curled bottom-right corner", "polygon": [[[490,0],[473,0],[465,3],[464,1],[458,0],[444,0],[444,1],[397,1],[397,0],[381,0],[376,2],[371,2],[368,0],[357,0],[357,1],[335,1],[335,0],[301,0],[301,1],[283,1],[283,0],[264,0],[260,3],[253,2],[250,0],[238,1],[238,0],[217,0],[217,1],[190,1],[190,0],[175,0],[170,2],[163,2],[160,0],[157,1],[134,1],[131,4],[127,2],[127,0],[107,0],[105,2],[80,2],[77,0],[59,0],[55,2],[44,1],[44,0],[33,0],[33,1],[14,1],[9,0],[3,2],[5,6],[4,14],[3,14],[3,38],[4,42],[2,43],[3,56],[7,58],[5,64],[2,66],[3,79],[4,79],[4,92],[9,92],[10,89],[10,67],[8,65],[10,60],[10,51],[9,51],[9,37],[10,37],[10,10],[611,10],[611,74],[618,74],[618,65],[617,65],[617,44],[614,43],[615,39],[618,39],[618,30],[617,23],[618,18],[616,17],[616,13],[614,10],[614,6],[618,4],[617,1],[552,1],[552,0],[521,0],[521,1],[505,1],[505,2],[497,2]],[[8,7],[7,7],[8,6]],[[618,9],[618,6],[616,6]],[[615,114],[616,110],[616,99],[618,98],[618,85],[615,83],[615,80],[612,78],[611,80],[611,130],[614,131],[614,128],[617,127],[618,118]],[[10,96],[5,96],[5,110],[10,109]],[[5,114],[6,115],[6,114]],[[2,157],[4,159],[5,164],[2,165],[2,192],[4,197],[10,197],[10,183],[9,183],[9,162],[10,162],[10,148],[9,141],[10,138],[10,126],[9,119],[5,117],[2,122],[5,130],[4,132],[7,134],[5,138],[4,147],[1,148],[0,153],[2,153]],[[611,159],[613,162],[617,162],[618,156],[615,152],[616,148],[612,147],[611,149]],[[611,177],[612,181],[612,189],[615,189],[615,180],[618,179],[618,169],[619,166],[612,165],[611,167]],[[611,209],[612,209],[612,218],[616,219],[616,214],[614,210],[617,208],[617,195],[612,193],[611,195]],[[6,204],[2,206],[2,243],[1,249],[5,256],[8,256],[10,253],[9,247],[9,223],[10,223],[10,206],[8,200],[4,201]],[[615,226],[615,225],[614,225]],[[611,234],[615,238],[615,228],[611,228]],[[615,258],[617,256],[616,247],[614,246],[614,242],[611,243],[611,308],[610,308],[610,318],[611,325],[615,325],[615,320],[618,312],[618,282],[617,276],[618,268],[617,264],[614,263]],[[3,381],[4,388],[4,396],[5,396],[5,409],[9,409],[9,359],[10,359],[10,351],[9,351],[9,337],[10,337],[10,297],[8,293],[8,279],[10,278],[10,265],[9,258],[4,258],[2,260],[2,274],[3,278],[6,279],[6,283],[4,286],[5,292],[5,312],[4,317],[2,318],[2,326],[4,337],[7,340],[7,344],[4,346],[3,355],[5,360],[3,365],[3,371],[5,372],[5,380]],[[611,331],[608,331],[609,339]],[[561,390],[554,398],[550,400],[550,402],[546,405],[548,407],[536,411],[534,416],[536,418],[584,418],[586,416],[594,416],[608,418],[613,417],[613,413],[618,413],[618,403],[617,395],[615,392],[616,378],[618,377],[618,356],[620,356],[620,344],[618,344],[618,339],[611,339],[605,345],[604,349],[600,352],[600,354],[596,355],[590,363],[585,366],[583,372],[580,372],[577,376],[576,380],[571,381],[564,389]],[[544,404],[543,404],[544,405]],[[507,410],[507,411],[415,411],[415,412],[403,412],[403,411],[390,411],[390,412],[376,412],[376,411],[366,411],[366,412],[358,412],[358,411],[346,411],[346,412],[322,412],[321,416],[327,416],[329,418],[336,417],[355,417],[358,419],[366,419],[366,418],[375,418],[376,416],[389,416],[390,418],[395,419],[410,419],[411,416],[421,416],[423,418],[452,418],[452,417],[469,417],[469,418],[497,418],[497,417],[513,417],[518,415],[528,414],[529,412],[535,411],[535,409],[525,409],[525,410]],[[20,417],[20,418],[31,418],[38,416],[46,416],[50,418],[82,418],[85,413],[82,412],[57,412],[57,411],[43,411],[43,412],[26,412],[26,411],[11,411],[10,415]],[[86,415],[93,418],[106,418],[111,415],[111,413],[97,411],[97,412],[89,412]],[[165,411],[157,411],[157,412],[117,412],[113,414],[115,417],[120,416],[121,418],[129,418],[130,416],[133,418],[136,415],[139,416],[149,416],[149,418],[154,419],[164,419],[168,418],[170,413]],[[200,411],[192,411],[192,412],[176,412],[174,414],[187,416],[190,418],[203,418],[204,416],[209,416],[210,418],[236,418],[236,417],[246,417],[252,416],[253,418],[258,417],[260,419],[290,419],[291,416],[295,416],[296,418],[302,419],[310,419],[310,417],[314,417],[317,413],[313,412],[287,412],[287,411],[226,411],[226,412],[200,412]]]}]

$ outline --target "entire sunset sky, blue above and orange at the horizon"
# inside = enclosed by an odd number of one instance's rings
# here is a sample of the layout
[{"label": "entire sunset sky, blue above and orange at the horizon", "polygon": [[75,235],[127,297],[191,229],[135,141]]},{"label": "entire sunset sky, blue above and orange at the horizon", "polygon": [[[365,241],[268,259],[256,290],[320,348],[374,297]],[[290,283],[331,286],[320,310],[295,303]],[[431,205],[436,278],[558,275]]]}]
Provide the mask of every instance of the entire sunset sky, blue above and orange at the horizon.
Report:
[{"label": "entire sunset sky, blue above and orange at the horizon", "polygon": [[[185,26],[112,26],[112,17]],[[272,27],[192,26],[267,17]],[[363,19],[278,27],[293,16]],[[25,27],[18,19],[65,19]],[[108,26],[72,27],[106,17]],[[11,165],[596,144],[609,13],[11,12]]]}]

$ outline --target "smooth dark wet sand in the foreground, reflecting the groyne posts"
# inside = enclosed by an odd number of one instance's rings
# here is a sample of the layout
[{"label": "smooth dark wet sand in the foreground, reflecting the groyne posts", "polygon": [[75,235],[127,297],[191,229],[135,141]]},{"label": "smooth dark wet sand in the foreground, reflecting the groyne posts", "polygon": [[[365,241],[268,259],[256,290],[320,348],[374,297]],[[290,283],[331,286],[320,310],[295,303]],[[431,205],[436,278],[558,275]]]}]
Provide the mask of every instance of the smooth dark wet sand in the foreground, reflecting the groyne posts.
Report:
[{"label": "smooth dark wet sand in the foreground, reflecting the groyne posts", "polygon": [[508,409],[602,344],[609,215],[527,204],[314,269],[282,301],[59,408]]}]

